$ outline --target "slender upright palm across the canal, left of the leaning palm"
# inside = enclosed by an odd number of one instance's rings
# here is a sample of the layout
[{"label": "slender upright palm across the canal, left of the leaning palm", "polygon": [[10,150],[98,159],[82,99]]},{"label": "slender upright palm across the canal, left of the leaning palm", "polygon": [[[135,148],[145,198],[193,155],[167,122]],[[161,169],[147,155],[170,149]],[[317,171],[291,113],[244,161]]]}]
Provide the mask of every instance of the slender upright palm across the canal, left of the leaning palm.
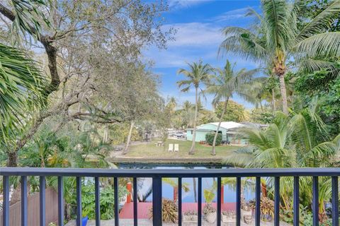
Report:
[{"label": "slender upright palm across the canal, left of the leaning palm", "polygon": [[198,63],[194,62],[193,64],[188,64],[189,70],[179,69],[177,73],[182,73],[187,77],[186,80],[178,81],[177,84],[179,88],[181,88],[181,92],[188,92],[191,88],[191,85],[195,88],[195,117],[193,120],[193,143],[189,150],[189,154],[193,155],[195,153],[195,139],[196,139],[196,121],[197,121],[197,112],[198,112],[198,89],[201,91],[200,85],[207,85],[210,82],[211,72],[213,71],[212,67],[209,64],[203,64],[202,61],[198,61]]}]

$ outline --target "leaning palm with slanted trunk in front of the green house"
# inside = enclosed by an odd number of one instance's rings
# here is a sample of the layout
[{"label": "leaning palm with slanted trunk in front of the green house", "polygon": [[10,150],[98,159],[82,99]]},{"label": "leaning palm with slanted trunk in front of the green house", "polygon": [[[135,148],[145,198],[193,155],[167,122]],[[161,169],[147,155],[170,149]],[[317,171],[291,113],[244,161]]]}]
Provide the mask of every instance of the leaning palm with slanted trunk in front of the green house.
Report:
[{"label": "leaning palm with slanted trunk in front of the green house", "polygon": [[239,71],[234,71],[234,66],[230,64],[229,60],[225,64],[224,69],[217,69],[217,76],[215,76],[215,81],[208,85],[206,93],[214,94],[215,97],[212,100],[212,105],[217,106],[221,101],[224,101],[222,114],[220,115],[220,121],[218,122],[217,129],[214,136],[214,141],[212,142],[211,155],[216,155],[215,145],[218,132],[220,131],[220,126],[222,119],[225,116],[225,111],[227,109],[228,101],[233,96],[234,93],[239,93],[242,86],[251,81],[251,78],[259,70],[254,69],[247,71],[246,69],[241,69]]}]

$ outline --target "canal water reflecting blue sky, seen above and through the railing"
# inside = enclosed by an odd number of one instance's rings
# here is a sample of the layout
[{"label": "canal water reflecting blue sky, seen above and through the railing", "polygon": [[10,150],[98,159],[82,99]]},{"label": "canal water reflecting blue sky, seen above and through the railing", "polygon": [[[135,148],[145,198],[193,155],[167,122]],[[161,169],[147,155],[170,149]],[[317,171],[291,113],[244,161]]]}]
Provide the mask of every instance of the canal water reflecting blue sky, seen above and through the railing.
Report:
[{"label": "canal water reflecting blue sky, seen above and through the railing", "polygon": [[[223,165],[204,165],[204,164],[141,164],[141,163],[120,163],[118,165],[120,169],[228,169],[229,167]],[[174,183],[178,183],[178,179],[172,179]],[[202,201],[205,202],[204,191],[212,191],[215,194],[213,202],[216,201],[216,187],[214,186],[214,180],[217,178],[202,178]],[[251,182],[250,182],[251,183]],[[140,198],[145,197],[144,201],[152,201],[152,179],[151,178],[139,178],[137,181],[138,196]],[[198,179],[193,178],[183,178],[182,184],[188,187],[188,191],[182,190],[182,202],[183,203],[194,203],[197,201],[197,190],[198,190]],[[196,184],[196,192],[194,191],[194,184]],[[236,191],[233,184],[224,185],[224,202],[234,203],[236,202]],[[196,198],[195,198],[196,194]],[[162,196],[163,198],[169,198],[173,200],[174,198],[174,187],[167,183],[162,182]],[[254,199],[254,192],[251,191],[250,187],[244,187],[244,198],[246,201]]]}]

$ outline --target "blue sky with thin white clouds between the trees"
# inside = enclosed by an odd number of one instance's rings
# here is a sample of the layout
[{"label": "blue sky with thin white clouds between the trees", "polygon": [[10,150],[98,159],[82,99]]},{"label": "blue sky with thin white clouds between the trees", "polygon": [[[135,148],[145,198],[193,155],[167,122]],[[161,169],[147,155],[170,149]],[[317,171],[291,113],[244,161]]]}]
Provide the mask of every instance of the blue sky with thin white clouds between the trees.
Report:
[{"label": "blue sky with thin white clouds between the trees", "polygon": [[[247,28],[251,18],[244,18],[247,8],[259,9],[259,0],[168,0],[170,10],[164,13],[166,23],[164,29],[176,28],[176,40],[168,43],[168,48],[159,50],[151,47],[145,51],[145,57],[154,61],[154,73],[160,76],[160,91],[164,97],[176,97],[181,104],[185,100],[194,102],[195,93],[181,93],[176,81],[183,79],[176,71],[186,68],[186,63],[198,61],[223,67],[226,59],[237,62],[236,69],[253,69],[256,64],[240,57],[228,54],[217,57],[217,50],[223,40],[221,29],[226,26],[240,26]],[[203,100],[206,108],[212,109],[211,97]],[[243,104],[246,108],[252,106],[239,97],[233,100]]]}]

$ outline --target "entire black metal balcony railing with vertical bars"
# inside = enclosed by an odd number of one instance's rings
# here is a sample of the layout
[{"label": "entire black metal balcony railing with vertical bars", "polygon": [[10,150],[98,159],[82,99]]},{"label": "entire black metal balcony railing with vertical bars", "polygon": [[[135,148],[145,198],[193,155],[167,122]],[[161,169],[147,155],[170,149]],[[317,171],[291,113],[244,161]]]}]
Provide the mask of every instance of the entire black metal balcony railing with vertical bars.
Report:
[{"label": "entire black metal balcony railing with vertical bars", "polygon": [[[114,178],[115,197],[115,225],[119,224],[118,217],[118,178],[133,178],[134,198],[134,225],[137,219],[137,178],[152,178],[152,222],[154,226],[162,225],[162,178],[171,177],[179,179],[179,188],[182,179],[188,177],[198,178],[198,225],[202,225],[202,178],[217,177],[217,225],[221,225],[221,178],[236,178],[236,225],[241,225],[241,179],[242,177],[255,177],[255,225],[260,225],[260,198],[261,177],[274,177],[274,225],[279,225],[280,209],[280,177],[294,177],[293,188],[293,225],[299,225],[299,177],[312,177],[312,213],[313,225],[319,225],[319,191],[318,177],[331,177],[332,186],[332,225],[339,225],[339,203],[338,203],[338,177],[340,168],[300,168],[300,169],[57,169],[57,168],[1,168],[0,176],[3,176],[3,225],[9,226],[9,178],[21,177],[21,225],[27,225],[27,177],[40,177],[40,225],[45,226],[45,177],[58,178],[58,215],[59,225],[64,223],[63,205],[63,177],[77,178],[77,226],[81,225],[81,177],[94,177],[95,202],[96,202],[96,225],[100,225],[100,203],[99,203],[99,178]],[[179,225],[182,225],[182,191],[179,189]],[[48,207],[47,207],[48,208]]]}]

